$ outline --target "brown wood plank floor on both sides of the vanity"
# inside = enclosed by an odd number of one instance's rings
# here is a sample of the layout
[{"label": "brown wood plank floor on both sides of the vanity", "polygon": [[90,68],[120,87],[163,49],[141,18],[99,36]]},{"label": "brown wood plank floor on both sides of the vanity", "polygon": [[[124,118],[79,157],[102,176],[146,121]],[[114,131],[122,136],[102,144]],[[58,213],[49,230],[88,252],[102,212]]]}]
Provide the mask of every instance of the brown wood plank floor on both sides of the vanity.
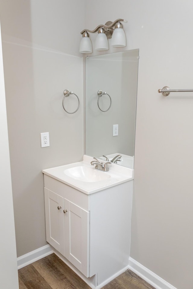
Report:
[{"label": "brown wood plank floor on both sides of the vanity", "polygon": [[[19,289],[90,289],[54,253],[18,270]],[[154,289],[150,284],[127,270],[103,289]]]}]

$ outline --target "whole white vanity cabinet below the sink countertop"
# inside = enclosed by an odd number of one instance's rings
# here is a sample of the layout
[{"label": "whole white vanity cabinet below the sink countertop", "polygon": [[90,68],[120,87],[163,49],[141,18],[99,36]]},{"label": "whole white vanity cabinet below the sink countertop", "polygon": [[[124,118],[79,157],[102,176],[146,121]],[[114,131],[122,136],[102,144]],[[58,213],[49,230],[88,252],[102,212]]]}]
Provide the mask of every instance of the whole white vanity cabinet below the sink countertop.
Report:
[{"label": "whole white vanity cabinet below the sink countertop", "polygon": [[132,188],[85,193],[44,174],[46,240],[92,288],[128,269]]}]

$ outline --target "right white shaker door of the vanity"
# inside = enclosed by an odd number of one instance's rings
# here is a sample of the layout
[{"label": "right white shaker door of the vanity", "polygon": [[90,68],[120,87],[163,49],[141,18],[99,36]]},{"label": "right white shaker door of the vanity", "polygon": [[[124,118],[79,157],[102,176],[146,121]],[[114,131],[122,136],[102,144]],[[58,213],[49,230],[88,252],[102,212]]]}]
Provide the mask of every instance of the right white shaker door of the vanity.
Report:
[{"label": "right white shaker door of the vanity", "polygon": [[89,277],[89,212],[64,199],[65,257]]}]

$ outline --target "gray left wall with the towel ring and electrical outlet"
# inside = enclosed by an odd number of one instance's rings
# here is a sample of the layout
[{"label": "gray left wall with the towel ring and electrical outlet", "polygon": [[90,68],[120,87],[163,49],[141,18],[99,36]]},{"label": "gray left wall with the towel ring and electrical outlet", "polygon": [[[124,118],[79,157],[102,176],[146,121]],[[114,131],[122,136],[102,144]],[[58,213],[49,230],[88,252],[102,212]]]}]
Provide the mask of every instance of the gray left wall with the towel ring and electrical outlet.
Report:
[{"label": "gray left wall with the towel ring and electrical outlet", "polygon": [[[84,1],[6,0],[0,1],[0,13],[17,256],[21,256],[47,244],[41,170],[80,161],[84,154],[83,59],[78,51],[79,28],[85,26]],[[80,98],[75,114],[63,110],[64,89]],[[76,103],[66,105],[70,110]],[[49,132],[50,147],[41,148],[40,132]]]}]

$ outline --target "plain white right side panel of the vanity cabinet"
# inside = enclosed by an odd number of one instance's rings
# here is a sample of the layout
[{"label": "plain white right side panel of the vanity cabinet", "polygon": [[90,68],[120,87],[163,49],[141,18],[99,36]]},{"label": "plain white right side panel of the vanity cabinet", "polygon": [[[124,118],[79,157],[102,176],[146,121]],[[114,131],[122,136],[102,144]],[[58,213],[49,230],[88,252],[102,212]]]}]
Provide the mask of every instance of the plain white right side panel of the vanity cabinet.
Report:
[{"label": "plain white right side panel of the vanity cabinet", "polygon": [[133,181],[91,195],[90,276],[98,285],[128,266]]}]

